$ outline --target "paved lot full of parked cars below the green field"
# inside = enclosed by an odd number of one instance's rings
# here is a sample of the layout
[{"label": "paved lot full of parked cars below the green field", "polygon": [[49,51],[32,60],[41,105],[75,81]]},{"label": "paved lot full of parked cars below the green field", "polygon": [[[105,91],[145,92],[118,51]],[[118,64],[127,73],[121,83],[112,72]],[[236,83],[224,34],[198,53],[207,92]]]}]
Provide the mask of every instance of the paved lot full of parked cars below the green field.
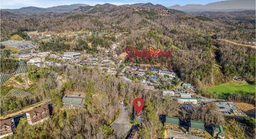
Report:
[{"label": "paved lot full of parked cars below the green field", "polygon": [[[230,115],[231,112],[235,112],[235,110],[242,112],[242,110],[236,107],[233,102],[218,102],[215,104],[219,107],[218,111],[224,115]],[[240,114],[237,114],[237,115],[240,115]],[[245,116],[243,112],[242,112],[242,115]]]}]

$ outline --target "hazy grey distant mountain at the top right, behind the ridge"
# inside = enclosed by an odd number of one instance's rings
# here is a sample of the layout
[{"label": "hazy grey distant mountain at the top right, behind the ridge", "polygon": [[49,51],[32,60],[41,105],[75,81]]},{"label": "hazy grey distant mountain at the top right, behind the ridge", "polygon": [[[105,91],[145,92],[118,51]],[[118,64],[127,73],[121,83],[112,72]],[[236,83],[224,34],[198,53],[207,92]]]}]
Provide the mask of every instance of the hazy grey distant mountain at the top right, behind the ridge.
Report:
[{"label": "hazy grey distant mountain at the top right, behind the ridge", "polygon": [[255,0],[226,0],[206,5],[187,4],[185,6],[174,5],[167,8],[182,11],[239,11],[255,10],[255,4]]}]

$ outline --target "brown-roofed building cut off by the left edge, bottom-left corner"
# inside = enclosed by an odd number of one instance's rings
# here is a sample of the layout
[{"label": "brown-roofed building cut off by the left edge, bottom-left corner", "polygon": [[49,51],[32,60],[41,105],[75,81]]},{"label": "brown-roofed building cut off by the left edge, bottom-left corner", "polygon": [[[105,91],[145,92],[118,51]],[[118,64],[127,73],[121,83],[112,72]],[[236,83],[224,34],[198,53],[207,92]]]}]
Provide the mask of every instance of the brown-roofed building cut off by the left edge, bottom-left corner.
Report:
[{"label": "brown-roofed building cut off by the left edge, bottom-left corner", "polygon": [[12,135],[16,130],[14,119],[1,119],[1,131],[0,131],[0,138],[6,137],[8,135]]}]

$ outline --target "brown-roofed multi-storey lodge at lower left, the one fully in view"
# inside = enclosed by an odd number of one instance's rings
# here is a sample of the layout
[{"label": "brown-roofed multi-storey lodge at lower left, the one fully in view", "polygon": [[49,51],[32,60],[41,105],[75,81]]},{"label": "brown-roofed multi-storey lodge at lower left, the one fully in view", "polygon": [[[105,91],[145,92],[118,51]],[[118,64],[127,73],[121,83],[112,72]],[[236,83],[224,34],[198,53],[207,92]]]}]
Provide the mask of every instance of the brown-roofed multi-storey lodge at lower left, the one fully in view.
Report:
[{"label": "brown-roofed multi-storey lodge at lower left, the one fully in view", "polygon": [[50,118],[48,104],[44,106],[33,108],[33,110],[26,112],[28,124],[36,125]]}]

